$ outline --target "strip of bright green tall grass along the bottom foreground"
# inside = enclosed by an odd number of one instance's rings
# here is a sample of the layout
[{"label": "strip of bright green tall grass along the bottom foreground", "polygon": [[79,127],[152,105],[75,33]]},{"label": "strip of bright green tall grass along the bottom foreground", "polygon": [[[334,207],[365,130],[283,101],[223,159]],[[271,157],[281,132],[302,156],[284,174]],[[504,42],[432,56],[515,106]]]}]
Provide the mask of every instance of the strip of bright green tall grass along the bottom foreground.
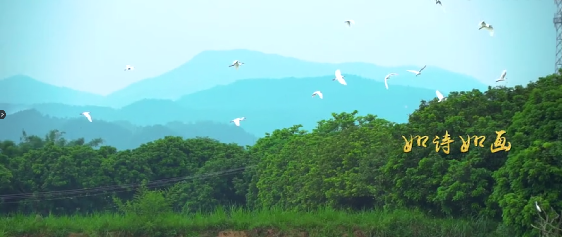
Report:
[{"label": "strip of bright green tall grass along the bottom foreground", "polygon": [[[417,211],[343,212],[325,208],[314,212],[271,209],[246,211],[217,208],[212,213],[184,215],[10,216],[0,218],[0,237],[85,236],[217,236],[220,231],[246,231],[252,236],[363,237],[502,237],[497,223],[486,220],[429,218]],[[269,232],[268,232],[269,231]],[[274,231],[272,234],[271,231]],[[75,236],[75,235],[74,235]]]}]

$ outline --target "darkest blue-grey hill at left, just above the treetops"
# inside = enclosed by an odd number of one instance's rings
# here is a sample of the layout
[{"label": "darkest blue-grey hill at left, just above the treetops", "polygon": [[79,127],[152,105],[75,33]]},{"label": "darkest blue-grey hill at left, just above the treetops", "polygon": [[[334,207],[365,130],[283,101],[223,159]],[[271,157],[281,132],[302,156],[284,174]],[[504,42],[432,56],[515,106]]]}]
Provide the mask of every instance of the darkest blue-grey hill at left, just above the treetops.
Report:
[{"label": "darkest blue-grey hill at left, just above the treetops", "polygon": [[112,145],[117,149],[132,149],[140,144],[164,138],[164,136],[183,136],[184,138],[208,136],[220,142],[238,143],[239,145],[251,145],[257,140],[255,136],[246,133],[241,127],[211,121],[135,126],[126,121],[96,120],[89,122],[84,117],[56,118],[44,116],[36,110],[24,110],[6,116],[0,120],[0,126],[2,126],[0,140],[19,141],[22,130],[25,130],[28,135],[44,136],[50,130],[57,129],[66,133],[66,139],[102,138],[105,141],[103,144]]}]

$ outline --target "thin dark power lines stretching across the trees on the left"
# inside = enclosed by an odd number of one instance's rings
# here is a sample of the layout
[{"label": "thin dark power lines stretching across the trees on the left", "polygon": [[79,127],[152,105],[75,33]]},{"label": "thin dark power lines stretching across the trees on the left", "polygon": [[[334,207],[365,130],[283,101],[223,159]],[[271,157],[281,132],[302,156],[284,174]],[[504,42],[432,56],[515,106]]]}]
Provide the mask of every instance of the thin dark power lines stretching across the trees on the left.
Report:
[{"label": "thin dark power lines stretching across the trees on the left", "polygon": [[[174,178],[169,178],[169,179],[153,180],[153,181],[148,181],[146,183],[146,186],[147,186],[147,188],[157,188],[157,187],[160,187],[160,186],[175,184],[175,183],[178,183],[179,181],[201,180],[201,179],[207,179],[207,178],[210,178],[210,177],[238,174],[238,173],[246,170],[246,168],[252,168],[252,167],[255,167],[255,165],[232,168],[230,170],[207,172],[205,174],[200,174],[200,175],[192,175],[192,176],[174,177]],[[39,192],[39,193],[6,194],[6,195],[0,195],[0,199],[3,199],[3,200],[18,200],[18,199],[20,199],[20,201],[0,202],[0,204],[18,203],[18,202],[21,202],[21,199],[26,199],[26,198],[42,198],[43,197],[43,198],[47,198],[47,199],[33,200],[33,201],[46,201],[46,200],[90,197],[90,196],[95,196],[95,195],[107,194],[108,192],[111,192],[111,193],[130,192],[129,189],[140,186],[141,184],[142,183],[131,183],[131,184],[122,184],[122,185],[101,186],[101,187],[89,188],[89,189],[68,189],[68,190]],[[123,189],[125,189],[125,190],[123,190]],[[85,195],[78,195],[78,194],[85,194]],[[56,196],[61,196],[61,195],[73,195],[73,196],[71,196],[71,197],[56,197]],[[53,196],[55,196],[55,197],[53,197]]]}]

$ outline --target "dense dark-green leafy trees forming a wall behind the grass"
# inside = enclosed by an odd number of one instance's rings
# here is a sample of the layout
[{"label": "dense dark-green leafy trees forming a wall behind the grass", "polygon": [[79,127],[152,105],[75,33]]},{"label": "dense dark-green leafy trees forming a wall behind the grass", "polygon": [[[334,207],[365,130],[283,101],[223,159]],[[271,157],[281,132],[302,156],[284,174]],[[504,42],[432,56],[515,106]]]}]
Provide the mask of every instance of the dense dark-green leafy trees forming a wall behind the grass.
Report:
[{"label": "dense dark-green leafy trees forming a wall behind the grass", "polygon": [[[22,134],[19,144],[0,143],[0,211],[119,211],[143,183],[162,190],[170,208],[184,213],[217,206],[406,208],[434,217],[489,218],[531,236],[537,234],[531,228],[538,220],[535,202],[544,212],[562,208],[561,75],[422,101],[407,124],[357,111],[332,115],[312,131],[275,130],[247,147],[167,136],[117,151],[99,140],[65,140],[59,131],[45,138]],[[492,152],[502,130],[511,148]],[[433,143],[445,134],[454,140],[448,154],[446,144],[436,152]],[[404,152],[410,135],[413,147]],[[427,147],[416,135],[428,136]],[[470,141],[462,152],[466,136],[486,140],[483,147]]]}]

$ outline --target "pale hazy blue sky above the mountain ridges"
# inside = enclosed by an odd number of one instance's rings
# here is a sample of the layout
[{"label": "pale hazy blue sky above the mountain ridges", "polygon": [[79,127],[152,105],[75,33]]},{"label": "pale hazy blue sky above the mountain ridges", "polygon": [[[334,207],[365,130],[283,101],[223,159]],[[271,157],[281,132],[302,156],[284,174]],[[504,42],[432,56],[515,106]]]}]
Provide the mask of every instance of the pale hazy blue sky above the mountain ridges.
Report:
[{"label": "pale hazy blue sky above the mountain ridges", "polygon": [[[108,94],[208,49],[424,64],[509,85],[554,72],[551,0],[0,0],[0,79]],[[344,20],[356,25],[346,28]],[[494,37],[478,31],[482,20]],[[230,63],[226,62],[226,63]],[[134,65],[124,74],[125,65]],[[331,72],[327,72],[327,75]]]}]

